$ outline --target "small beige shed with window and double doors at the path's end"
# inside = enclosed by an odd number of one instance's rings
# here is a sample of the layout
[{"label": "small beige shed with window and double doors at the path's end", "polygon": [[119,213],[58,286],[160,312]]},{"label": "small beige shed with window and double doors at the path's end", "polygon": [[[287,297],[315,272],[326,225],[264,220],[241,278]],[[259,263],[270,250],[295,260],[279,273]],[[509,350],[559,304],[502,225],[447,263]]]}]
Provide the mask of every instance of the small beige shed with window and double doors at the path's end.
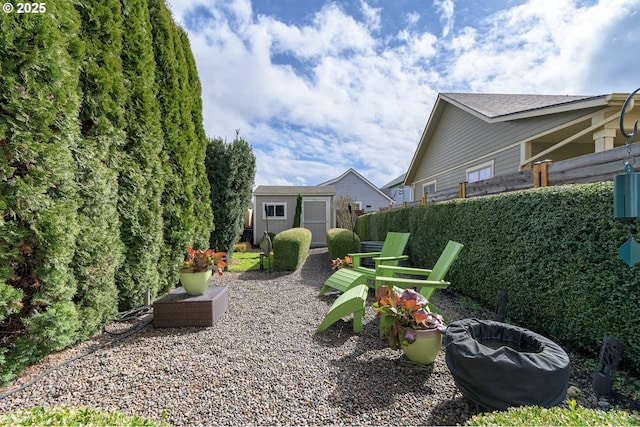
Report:
[{"label": "small beige shed with window and double doors at the path's end", "polygon": [[265,231],[278,234],[293,227],[302,196],[300,227],[311,230],[311,246],[326,246],[327,230],[334,228],[336,190],[323,186],[261,185],[253,192],[253,244],[259,244]]}]

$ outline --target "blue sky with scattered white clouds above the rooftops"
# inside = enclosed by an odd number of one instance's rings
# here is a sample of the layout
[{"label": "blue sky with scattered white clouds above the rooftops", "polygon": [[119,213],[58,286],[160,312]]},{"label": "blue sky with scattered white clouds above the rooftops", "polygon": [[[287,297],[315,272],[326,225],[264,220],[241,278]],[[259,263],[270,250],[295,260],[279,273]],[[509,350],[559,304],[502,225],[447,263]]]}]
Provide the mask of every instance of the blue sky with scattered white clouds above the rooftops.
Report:
[{"label": "blue sky with scattered white clouds above the rooftops", "polygon": [[249,142],[254,188],[411,163],[438,93],[640,86],[640,0],[166,0],[210,138]]}]

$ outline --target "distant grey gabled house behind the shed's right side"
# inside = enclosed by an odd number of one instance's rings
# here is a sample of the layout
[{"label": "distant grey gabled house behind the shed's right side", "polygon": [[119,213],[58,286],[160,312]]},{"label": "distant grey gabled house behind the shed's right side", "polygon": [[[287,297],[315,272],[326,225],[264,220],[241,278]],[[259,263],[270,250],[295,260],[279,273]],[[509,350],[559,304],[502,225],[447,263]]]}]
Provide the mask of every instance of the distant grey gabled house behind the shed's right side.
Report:
[{"label": "distant grey gabled house behind the shed's right side", "polygon": [[389,207],[393,199],[383,193],[378,187],[365,177],[349,168],[337,178],[323,182],[322,185],[332,185],[336,189],[336,197],[350,197],[354,202],[354,210],[377,212],[382,207]]}]

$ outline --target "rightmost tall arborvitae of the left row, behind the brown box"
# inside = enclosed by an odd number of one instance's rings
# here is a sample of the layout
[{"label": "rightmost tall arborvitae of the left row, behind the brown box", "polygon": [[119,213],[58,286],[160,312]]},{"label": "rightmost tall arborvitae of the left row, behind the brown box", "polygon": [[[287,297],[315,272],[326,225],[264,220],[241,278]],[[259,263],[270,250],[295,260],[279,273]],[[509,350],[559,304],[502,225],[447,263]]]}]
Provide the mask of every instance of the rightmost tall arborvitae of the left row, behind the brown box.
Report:
[{"label": "rightmost tall arborvitae of the left row, behind the brown box", "polygon": [[[183,260],[185,248],[206,249],[213,218],[207,203],[202,165],[206,152],[204,130],[196,131],[202,122],[195,123],[193,117],[200,106],[200,101],[195,100],[200,97],[200,91],[193,79],[189,79],[191,67],[185,53],[189,45],[185,45],[186,38],[180,36],[181,30],[173,22],[164,1],[149,0],[148,3],[166,159],[162,194],[165,249],[160,274],[162,289],[168,290],[178,282],[177,266]],[[193,93],[194,90],[197,93]]]}]

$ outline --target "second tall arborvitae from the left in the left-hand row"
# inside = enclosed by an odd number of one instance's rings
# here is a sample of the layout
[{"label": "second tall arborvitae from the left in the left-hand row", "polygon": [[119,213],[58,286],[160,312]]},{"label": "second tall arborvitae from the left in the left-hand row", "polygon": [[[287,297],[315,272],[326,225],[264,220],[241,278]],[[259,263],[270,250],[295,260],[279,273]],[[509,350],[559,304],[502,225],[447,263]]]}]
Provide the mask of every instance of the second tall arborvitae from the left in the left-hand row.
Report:
[{"label": "second tall arborvitae from the left in the left-hand row", "polygon": [[79,233],[72,268],[78,282],[76,301],[88,338],[118,309],[115,274],[124,251],[118,217],[118,149],[125,140],[122,74],[122,16],[119,0],[102,0],[80,15],[84,60],[80,74],[81,144],[74,152],[80,196]]}]

